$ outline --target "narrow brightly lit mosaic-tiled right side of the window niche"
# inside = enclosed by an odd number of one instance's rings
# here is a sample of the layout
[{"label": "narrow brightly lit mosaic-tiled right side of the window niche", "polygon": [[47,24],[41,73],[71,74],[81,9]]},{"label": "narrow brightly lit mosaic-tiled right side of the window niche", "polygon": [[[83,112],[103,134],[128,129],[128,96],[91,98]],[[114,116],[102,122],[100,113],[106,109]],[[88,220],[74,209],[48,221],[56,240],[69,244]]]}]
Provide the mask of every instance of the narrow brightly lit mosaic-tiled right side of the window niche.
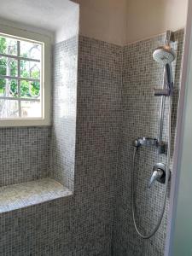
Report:
[{"label": "narrow brightly lit mosaic-tiled right side of the window niche", "polygon": [[55,44],[53,50],[51,171],[52,177],[71,190],[74,184],[78,41],[78,37],[70,38]]}]

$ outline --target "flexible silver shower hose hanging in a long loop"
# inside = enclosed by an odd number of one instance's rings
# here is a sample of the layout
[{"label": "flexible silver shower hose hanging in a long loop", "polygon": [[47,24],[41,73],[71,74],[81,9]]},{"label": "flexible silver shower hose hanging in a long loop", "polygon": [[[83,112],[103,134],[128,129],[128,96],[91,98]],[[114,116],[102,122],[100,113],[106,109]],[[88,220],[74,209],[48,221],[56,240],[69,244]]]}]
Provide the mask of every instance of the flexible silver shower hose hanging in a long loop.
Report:
[{"label": "flexible silver shower hose hanging in a long loop", "polygon": [[135,226],[135,229],[137,230],[137,233],[139,236],[141,236],[143,239],[148,239],[151,236],[154,236],[156,231],[159,229],[165,209],[166,209],[166,195],[168,191],[168,182],[169,182],[169,167],[170,167],[170,154],[171,154],[171,114],[172,114],[172,96],[169,96],[169,117],[168,117],[168,142],[167,142],[167,162],[166,162],[166,187],[164,192],[164,201],[163,206],[160,211],[160,217],[158,218],[158,222],[154,227],[154,230],[152,230],[148,234],[142,234],[142,232],[138,229],[137,223],[136,223],[136,202],[135,202],[135,185],[134,185],[134,170],[135,170],[135,159],[136,159],[136,153],[137,153],[137,147],[134,147],[133,151],[133,160],[132,160],[132,170],[131,170],[131,207],[132,207],[132,217],[133,217],[133,223]]}]

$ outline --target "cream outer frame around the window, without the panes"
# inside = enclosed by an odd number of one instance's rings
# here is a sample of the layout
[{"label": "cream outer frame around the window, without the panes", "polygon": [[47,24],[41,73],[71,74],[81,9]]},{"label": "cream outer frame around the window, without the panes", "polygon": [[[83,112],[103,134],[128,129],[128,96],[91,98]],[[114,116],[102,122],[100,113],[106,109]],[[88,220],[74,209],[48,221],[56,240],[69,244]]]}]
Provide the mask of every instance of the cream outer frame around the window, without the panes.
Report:
[{"label": "cream outer frame around the window, without the panes", "polygon": [[50,125],[50,67],[51,67],[51,38],[38,32],[29,32],[23,29],[0,24],[0,34],[4,37],[34,42],[42,45],[41,59],[41,118],[9,118],[0,119],[0,127],[9,126],[36,126]]}]

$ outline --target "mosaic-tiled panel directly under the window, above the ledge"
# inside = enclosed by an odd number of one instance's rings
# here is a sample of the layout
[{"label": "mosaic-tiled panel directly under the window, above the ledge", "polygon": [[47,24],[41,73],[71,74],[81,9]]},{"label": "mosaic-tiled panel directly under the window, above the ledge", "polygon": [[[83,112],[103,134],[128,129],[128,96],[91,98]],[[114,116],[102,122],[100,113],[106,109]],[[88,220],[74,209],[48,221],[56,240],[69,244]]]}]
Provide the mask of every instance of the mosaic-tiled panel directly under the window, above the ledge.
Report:
[{"label": "mosaic-tiled panel directly under the window, above the ledge", "polygon": [[0,129],[0,186],[49,177],[50,127]]}]

